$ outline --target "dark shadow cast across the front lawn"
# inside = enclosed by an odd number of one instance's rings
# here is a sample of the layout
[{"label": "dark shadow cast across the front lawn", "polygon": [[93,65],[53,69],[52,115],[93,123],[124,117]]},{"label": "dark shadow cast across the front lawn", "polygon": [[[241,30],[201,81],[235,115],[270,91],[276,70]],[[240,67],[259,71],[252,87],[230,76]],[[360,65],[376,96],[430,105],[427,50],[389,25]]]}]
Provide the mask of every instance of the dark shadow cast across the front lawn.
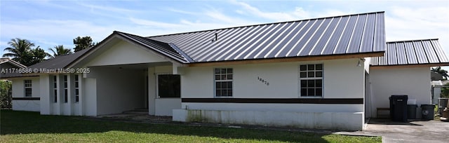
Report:
[{"label": "dark shadow cast across the front lawn", "polygon": [[81,120],[74,116],[40,115],[39,112],[1,110],[1,135],[32,133],[144,132],[223,139],[264,139],[280,142],[328,142],[326,134],[242,128],[219,128],[190,125],[125,123],[117,121]]}]

